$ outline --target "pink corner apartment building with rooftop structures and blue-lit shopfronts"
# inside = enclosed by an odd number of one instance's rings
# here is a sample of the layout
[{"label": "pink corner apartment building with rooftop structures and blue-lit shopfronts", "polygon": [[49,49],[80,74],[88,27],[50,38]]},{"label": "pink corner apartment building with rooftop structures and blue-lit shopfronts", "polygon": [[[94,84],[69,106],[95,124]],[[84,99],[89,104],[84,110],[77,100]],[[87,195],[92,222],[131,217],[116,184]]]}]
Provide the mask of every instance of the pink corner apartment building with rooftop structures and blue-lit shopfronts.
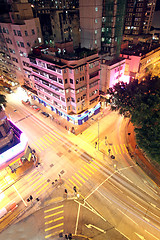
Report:
[{"label": "pink corner apartment building with rooftop structures and blue-lit shopfronts", "polygon": [[35,48],[29,58],[37,91],[34,98],[40,103],[75,124],[82,124],[97,110],[100,61],[95,50],[73,51],[73,43],[65,42],[56,48]]}]

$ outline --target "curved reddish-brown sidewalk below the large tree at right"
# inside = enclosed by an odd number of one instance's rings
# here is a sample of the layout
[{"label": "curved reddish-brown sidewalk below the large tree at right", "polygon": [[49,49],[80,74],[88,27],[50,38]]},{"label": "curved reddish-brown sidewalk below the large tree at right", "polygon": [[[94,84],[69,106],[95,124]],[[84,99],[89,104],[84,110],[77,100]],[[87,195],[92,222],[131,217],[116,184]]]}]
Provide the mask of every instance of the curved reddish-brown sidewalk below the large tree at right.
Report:
[{"label": "curved reddish-brown sidewalk below the large tree at right", "polygon": [[134,126],[131,122],[128,123],[126,139],[128,152],[131,158],[158,186],[160,186],[160,171],[157,170],[160,166],[156,163],[151,163],[151,161],[145,157],[142,150],[136,147],[137,143],[135,140]]}]

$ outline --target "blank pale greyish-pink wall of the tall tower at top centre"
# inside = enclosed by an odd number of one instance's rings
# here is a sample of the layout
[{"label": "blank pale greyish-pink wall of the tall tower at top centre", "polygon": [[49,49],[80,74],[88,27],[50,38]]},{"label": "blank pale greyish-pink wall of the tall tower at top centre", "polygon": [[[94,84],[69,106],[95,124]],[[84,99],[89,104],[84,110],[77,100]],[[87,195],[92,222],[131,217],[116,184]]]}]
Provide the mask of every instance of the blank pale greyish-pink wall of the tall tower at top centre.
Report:
[{"label": "blank pale greyish-pink wall of the tall tower at top centre", "polygon": [[81,47],[101,49],[102,0],[80,0]]}]

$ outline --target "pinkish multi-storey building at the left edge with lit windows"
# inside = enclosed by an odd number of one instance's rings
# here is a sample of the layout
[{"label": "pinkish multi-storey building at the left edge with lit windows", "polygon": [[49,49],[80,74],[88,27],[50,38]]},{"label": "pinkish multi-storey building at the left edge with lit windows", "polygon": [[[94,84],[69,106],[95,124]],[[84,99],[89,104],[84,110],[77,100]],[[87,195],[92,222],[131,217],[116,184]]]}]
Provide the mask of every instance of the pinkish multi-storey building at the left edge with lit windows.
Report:
[{"label": "pinkish multi-storey building at the left edge with lit windows", "polygon": [[29,3],[13,3],[0,22],[0,68],[3,79],[11,86],[30,82],[28,53],[42,43],[38,18],[33,17]]}]

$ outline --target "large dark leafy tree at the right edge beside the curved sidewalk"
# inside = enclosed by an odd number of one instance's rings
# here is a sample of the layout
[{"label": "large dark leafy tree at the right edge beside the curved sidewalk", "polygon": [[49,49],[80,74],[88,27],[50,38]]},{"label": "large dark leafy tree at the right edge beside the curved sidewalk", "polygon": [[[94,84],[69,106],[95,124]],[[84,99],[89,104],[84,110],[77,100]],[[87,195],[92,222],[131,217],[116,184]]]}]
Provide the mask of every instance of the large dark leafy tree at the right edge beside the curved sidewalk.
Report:
[{"label": "large dark leafy tree at the right edge beside the curved sidewalk", "polygon": [[130,118],[139,146],[160,162],[160,78],[148,75],[140,83],[119,82],[108,93],[111,109]]}]

